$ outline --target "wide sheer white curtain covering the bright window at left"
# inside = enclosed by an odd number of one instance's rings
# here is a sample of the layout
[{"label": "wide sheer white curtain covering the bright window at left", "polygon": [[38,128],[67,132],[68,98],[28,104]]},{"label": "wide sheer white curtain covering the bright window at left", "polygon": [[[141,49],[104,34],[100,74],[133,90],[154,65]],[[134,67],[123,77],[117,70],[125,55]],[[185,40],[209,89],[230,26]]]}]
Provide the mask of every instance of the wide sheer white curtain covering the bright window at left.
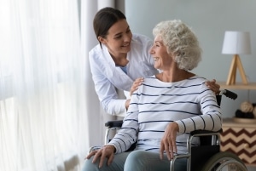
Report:
[{"label": "wide sheer white curtain covering the bright window at left", "polygon": [[89,147],[74,0],[0,1],[0,170],[69,168]]}]

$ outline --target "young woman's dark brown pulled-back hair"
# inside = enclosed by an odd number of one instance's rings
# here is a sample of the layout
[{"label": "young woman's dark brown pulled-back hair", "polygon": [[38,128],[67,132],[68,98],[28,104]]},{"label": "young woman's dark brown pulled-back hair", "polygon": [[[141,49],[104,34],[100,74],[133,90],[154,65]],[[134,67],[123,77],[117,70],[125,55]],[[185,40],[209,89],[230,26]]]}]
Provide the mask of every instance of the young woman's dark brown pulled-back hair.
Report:
[{"label": "young woman's dark brown pulled-back hair", "polygon": [[[100,9],[93,20],[93,28],[96,34],[96,38],[103,37],[106,38],[108,35],[108,30],[114,23],[119,20],[126,20],[125,14],[123,14],[119,9],[113,9],[110,7],[106,7]],[[99,42],[102,47],[102,43]]]}]

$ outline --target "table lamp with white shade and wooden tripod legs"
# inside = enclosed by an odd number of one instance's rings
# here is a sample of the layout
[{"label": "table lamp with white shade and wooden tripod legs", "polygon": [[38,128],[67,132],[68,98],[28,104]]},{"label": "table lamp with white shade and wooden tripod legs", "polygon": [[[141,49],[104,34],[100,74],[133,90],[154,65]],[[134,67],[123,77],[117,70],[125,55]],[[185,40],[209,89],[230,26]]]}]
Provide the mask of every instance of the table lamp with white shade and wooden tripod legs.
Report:
[{"label": "table lamp with white shade and wooden tripod legs", "polygon": [[233,54],[230,73],[226,84],[236,84],[236,68],[238,68],[243,84],[247,77],[241,65],[239,54],[251,54],[250,34],[247,31],[225,31],[222,54]]}]

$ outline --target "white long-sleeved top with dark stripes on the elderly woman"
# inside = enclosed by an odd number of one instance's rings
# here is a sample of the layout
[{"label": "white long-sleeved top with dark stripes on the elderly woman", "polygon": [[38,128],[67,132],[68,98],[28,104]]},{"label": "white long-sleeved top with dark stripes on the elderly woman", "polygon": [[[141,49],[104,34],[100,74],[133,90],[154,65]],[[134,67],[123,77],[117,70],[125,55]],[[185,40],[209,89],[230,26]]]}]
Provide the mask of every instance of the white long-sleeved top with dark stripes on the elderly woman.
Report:
[{"label": "white long-sleeved top with dark stripes on the elderly woman", "polygon": [[[138,150],[159,152],[166,126],[175,121],[179,127],[177,152],[186,152],[191,131],[221,128],[220,107],[205,82],[199,76],[175,83],[161,82],[155,76],[145,78],[132,94],[122,128],[109,145],[115,146],[116,153],[126,151],[134,142]],[[200,141],[195,139],[193,144],[200,145]]]}]

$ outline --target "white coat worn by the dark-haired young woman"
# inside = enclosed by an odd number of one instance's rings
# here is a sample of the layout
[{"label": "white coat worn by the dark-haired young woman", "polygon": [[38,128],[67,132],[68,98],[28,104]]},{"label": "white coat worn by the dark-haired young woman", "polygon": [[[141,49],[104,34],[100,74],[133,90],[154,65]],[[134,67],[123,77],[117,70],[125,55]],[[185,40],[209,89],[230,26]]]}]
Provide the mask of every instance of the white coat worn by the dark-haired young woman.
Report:
[{"label": "white coat worn by the dark-haired young woman", "polygon": [[116,88],[129,92],[135,79],[152,76],[158,72],[154,68],[154,59],[149,54],[152,44],[148,37],[133,34],[131,51],[126,57],[129,60],[126,66],[127,74],[119,66],[115,66],[108,48],[103,44],[102,48],[97,44],[90,50],[90,71],[96,94],[108,114],[123,115],[126,111],[125,100],[119,99]]}]

